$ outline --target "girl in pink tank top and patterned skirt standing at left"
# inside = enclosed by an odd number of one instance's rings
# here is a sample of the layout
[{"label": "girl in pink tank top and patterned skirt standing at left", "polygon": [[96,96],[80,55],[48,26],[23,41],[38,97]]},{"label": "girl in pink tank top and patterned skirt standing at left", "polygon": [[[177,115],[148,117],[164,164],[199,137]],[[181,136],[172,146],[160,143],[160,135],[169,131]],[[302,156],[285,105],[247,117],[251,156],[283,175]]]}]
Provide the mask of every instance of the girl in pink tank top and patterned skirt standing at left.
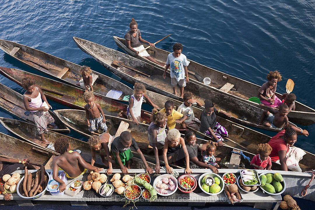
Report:
[{"label": "girl in pink tank top and patterned skirt standing at left", "polygon": [[32,81],[30,77],[25,77],[22,79],[22,87],[26,90],[23,95],[25,109],[30,111],[31,116],[33,116],[42,142],[48,145],[51,142],[45,139],[44,132],[47,130],[47,125],[51,128],[54,128],[54,126],[50,125],[50,123],[54,122],[54,118],[49,114],[48,109],[43,106],[42,99],[49,107],[46,96],[43,94],[40,88],[35,86],[35,82]]}]

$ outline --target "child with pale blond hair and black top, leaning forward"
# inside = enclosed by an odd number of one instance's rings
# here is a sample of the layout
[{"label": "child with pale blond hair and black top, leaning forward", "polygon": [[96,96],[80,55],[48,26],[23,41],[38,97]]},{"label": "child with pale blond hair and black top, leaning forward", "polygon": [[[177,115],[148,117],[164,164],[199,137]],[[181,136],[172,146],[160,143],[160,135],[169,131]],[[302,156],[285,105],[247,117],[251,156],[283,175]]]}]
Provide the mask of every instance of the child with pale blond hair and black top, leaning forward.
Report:
[{"label": "child with pale blond hair and black top, leaning forward", "polygon": [[169,163],[176,162],[180,149],[185,154],[186,161],[186,174],[191,174],[192,170],[189,167],[189,154],[186,148],[185,140],[180,137],[179,130],[176,128],[170,130],[165,138],[165,144],[163,146],[163,160],[166,167],[166,172],[169,174],[173,173],[173,168],[169,166]]}]

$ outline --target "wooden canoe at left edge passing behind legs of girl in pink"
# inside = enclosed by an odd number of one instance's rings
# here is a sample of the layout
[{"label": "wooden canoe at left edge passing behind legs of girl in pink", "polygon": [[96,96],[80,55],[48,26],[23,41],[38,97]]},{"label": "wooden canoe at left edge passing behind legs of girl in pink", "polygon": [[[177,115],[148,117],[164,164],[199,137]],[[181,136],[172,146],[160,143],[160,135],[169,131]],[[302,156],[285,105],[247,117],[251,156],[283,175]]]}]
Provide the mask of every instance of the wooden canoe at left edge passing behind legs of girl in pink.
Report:
[{"label": "wooden canoe at left edge passing behind legs of girl in pink", "polygon": [[[26,122],[34,123],[33,117],[30,115],[30,112],[25,109],[23,102],[23,95],[18,92],[8,88],[7,86],[0,83],[0,107],[9,112],[10,114],[24,120]],[[54,118],[57,128],[49,130],[58,132],[58,133],[70,133],[70,129],[59,120],[54,112],[49,110],[49,114]]]}]

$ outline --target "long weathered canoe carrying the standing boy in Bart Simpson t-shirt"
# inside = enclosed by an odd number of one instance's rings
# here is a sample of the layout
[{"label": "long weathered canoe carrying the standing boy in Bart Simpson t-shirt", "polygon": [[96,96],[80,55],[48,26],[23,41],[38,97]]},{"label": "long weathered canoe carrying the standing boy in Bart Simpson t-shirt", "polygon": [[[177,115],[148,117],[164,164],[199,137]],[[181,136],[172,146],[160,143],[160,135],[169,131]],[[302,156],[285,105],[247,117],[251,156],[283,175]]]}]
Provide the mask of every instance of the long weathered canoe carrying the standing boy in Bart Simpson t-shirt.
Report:
[{"label": "long weathered canoe carrying the standing boy in Bart Simpson t-shirt", "polygon": [[[179,96],[173,94],[173,90],[170,85],[170,74],[167,73],[166,78],[163,79],[162,69],[133,58],[130,55],[121,53],[111,48],[106,48],[102,45],[90,42],[88,40],[80,39],[77,37],[73,37],[73,40],[81,50],[92,56],[106,69],[116,74],[121,79],[131,84],[135,84],[135,82],[140,82],[144,84],[146,89],[148,90],[182,101]],[[137,71],[140,71],[142,73],[151,75],[151,77],[144,76],[143,74],[132,71],[126,67],[117,67],[117,65],[113,64],[114,60],[121,61],[124,63],[124,65],[136,69]],[[154,77],[154,79],[152,76]],[[250,105],[245,103],[244,101],[234,99],[219,92],[215,92],[195,82],[187,83],[185,91],[192,92],[194,98],[202,103],[206,99],[212,99],[212,101],[216,104],[216,108],[224,110],[232,115],[229,120],[233,122],[261,128],[264,130],[279,132],[278,129],[267,128],[265,126],[258,125],[263,110],[254,105]]]}]

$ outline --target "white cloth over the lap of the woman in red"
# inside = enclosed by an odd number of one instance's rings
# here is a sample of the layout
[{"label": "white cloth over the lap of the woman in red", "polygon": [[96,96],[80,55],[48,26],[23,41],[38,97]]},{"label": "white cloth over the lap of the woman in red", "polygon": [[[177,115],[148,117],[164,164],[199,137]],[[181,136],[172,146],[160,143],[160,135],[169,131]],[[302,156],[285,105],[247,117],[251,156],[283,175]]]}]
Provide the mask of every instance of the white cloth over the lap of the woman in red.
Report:
[{"label": "white cloth over the lap of the woman in red", "polygon": [[[290,147],[287,153],[287,167],[292,171],[302,172],[302,169],[299,166],[300,160],[306,152],[298,147]],[[280,164],[280,160],[277,160],[276,163]]]}]

